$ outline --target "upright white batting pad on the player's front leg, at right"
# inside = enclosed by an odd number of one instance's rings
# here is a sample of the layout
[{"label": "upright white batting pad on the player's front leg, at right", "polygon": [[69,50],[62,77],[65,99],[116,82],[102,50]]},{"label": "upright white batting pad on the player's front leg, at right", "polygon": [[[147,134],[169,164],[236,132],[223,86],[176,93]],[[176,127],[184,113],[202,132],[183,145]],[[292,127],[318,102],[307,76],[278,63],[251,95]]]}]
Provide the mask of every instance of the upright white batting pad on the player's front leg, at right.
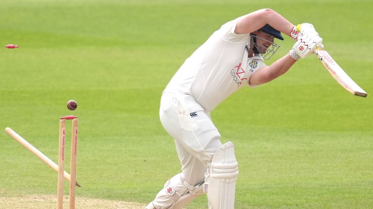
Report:
[{"label": "upright white batting pad on the player's front leg, at right", "polygon": [[237,165],[232,142],[223,144],[212,156],[203,185],[209,209],[234,209]]}]

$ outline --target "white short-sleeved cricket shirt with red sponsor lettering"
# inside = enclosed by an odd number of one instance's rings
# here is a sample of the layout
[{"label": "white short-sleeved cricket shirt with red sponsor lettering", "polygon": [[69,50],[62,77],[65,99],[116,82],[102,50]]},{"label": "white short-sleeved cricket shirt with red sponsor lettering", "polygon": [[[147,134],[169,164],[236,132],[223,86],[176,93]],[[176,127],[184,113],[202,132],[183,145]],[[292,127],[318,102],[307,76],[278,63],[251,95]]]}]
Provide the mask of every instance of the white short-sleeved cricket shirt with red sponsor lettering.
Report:
[{"label": "white short-sleeved cricket shirt with red sponsor lettering", "polygon": [[248,85],[265,66],[263,58],[248,58],[250,34],[236,34],[239,18],[215,31],[180,67],[163,92],[190,94],[208,112],[233,92]]}]

